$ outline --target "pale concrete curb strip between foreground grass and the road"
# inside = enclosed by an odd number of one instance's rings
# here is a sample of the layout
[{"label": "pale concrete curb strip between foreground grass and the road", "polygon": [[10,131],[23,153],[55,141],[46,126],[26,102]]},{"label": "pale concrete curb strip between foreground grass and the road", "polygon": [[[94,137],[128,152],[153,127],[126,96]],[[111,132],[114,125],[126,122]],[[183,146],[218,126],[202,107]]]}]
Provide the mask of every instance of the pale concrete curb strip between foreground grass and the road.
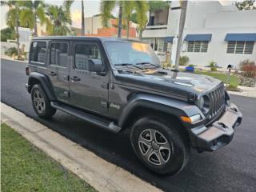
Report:
[{"label": "pale concrete curb strip between foreground grass and the road", "polygon": [[3,103],[1,118],[2,122],[98,191],[162,191]]}]

